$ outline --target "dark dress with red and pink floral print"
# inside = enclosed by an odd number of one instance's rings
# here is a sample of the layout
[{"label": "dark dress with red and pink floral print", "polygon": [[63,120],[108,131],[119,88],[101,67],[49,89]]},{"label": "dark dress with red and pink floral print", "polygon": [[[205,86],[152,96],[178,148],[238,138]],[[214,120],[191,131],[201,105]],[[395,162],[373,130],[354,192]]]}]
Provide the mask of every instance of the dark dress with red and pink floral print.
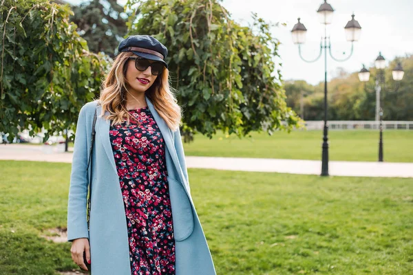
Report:
[{"label": "dark dress with red and pink floral print", "polygon": [[149,107],[110,126],[109,137],[123,194],[131,275],[175,274],[175,239],[165,142]]}]

